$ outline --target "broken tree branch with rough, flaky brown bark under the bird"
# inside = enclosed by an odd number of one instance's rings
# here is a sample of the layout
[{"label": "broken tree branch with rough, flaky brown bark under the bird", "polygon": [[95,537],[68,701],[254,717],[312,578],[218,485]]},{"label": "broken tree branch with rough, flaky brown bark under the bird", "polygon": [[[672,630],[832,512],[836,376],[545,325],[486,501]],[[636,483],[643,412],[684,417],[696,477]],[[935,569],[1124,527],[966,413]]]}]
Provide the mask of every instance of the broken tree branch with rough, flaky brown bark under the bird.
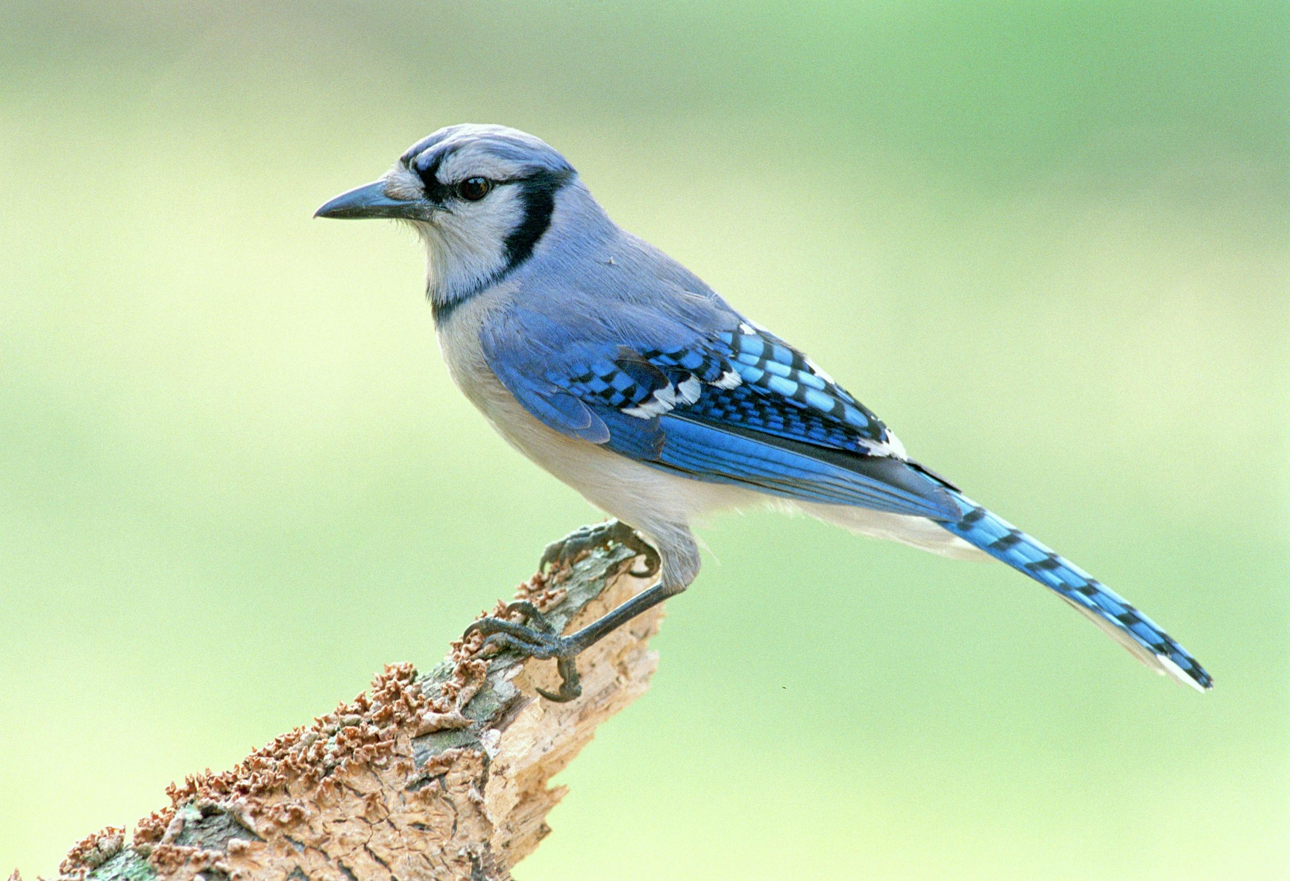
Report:
[{"label": "broken tree branch with rough, flaky brown bark under the bird", "polygon": [[[636,552],[595,549],[516,597],[570,632],[646,586]],[[501,604],[499,604],[501,605]],[[503,881],[551,831],[550,787],[596,726],[640,697],[658,657],[651,609],[582,654],[583,694],[552,703],[555,662],[480,657],[454,642],[428,673],[391,664],[372,689],[222,774],[197,774],[139,820],[108,827],[59,867],[85,881]],[[12,881],[17,880],[17,872]]]}]

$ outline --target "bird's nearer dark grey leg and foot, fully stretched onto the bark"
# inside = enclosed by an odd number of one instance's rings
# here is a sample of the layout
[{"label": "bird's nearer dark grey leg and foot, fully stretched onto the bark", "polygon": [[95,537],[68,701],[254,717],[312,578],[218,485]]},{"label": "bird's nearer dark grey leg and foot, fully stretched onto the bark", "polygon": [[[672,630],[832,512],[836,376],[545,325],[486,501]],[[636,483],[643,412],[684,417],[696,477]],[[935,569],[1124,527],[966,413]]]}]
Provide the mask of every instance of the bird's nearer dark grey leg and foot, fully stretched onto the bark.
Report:
[{"label": "bird's nearer dark grey leg and foot, fully stretched onto the bark", "polygon": [[484,635],[484,645],[497,646],[517,651],[529,658],[555,658],[556,668],[560,671],[560,690],[547,691],[538,689],[538,694],[548,700],[564,703],[573,700],[582,694],[582,685],[578,682],[578,668],[574,659],[580,651],[599,642],[615,628],[650,609],[670,596],[684,591],[684,586],[672,586],[658,582],[613,611],[601,615],[580,631],[569,636],[560,636],[551,622],[531,602],[512,602],[506,608],[507,614],[519,611],[525,617],[524,624],[502,618],[480,618],[466,628],[462,638],[470,638],[472,633]]}]

